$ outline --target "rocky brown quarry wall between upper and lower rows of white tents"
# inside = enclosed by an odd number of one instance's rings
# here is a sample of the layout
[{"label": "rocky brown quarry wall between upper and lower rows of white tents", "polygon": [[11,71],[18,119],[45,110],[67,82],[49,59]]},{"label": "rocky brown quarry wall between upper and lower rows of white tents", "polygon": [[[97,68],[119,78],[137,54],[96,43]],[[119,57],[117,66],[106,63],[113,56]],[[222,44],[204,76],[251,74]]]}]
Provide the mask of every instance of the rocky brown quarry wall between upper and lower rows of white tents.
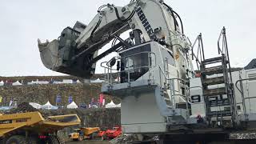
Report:
[{"label": "rocky brown quarry wall between upper and lower rows of white tents", "polygon": [[[44,104],[50,101],[55,105],[56,95],[62,96],[62,102],[59,106],[68,104],[68,97],[72,95],[74,102],[88,104],[91,98],[98,99],[101,94],[102,84],[48,84],[48,85],[23,85],[23,86],[0,86],[0,95],[2,96],[2,106],[8,106],[11,98],[20,102],[38,102]],[[119,103],[120,99],[106,95],[106,102],[114,100]]]}]

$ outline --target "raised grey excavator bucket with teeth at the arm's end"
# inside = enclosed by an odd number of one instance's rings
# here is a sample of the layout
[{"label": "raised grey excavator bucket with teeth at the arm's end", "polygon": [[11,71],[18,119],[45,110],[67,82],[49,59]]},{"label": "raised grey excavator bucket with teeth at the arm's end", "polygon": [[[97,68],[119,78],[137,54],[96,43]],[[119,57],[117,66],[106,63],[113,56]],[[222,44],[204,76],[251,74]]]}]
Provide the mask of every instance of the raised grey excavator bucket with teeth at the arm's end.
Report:
[{"label": "raised grey excavator bucket with teeth at the arm's end", "polygon": [[90,61],[94,58],[95,53],[98,53],[94,51],[74,58],[81,53],[75,43],[79,34],[78,31],[66,27],[58,40],[41,42],[38,39],[38,48],[44,66],[60,73],[90,78],[95,71],[95,64]]}]

